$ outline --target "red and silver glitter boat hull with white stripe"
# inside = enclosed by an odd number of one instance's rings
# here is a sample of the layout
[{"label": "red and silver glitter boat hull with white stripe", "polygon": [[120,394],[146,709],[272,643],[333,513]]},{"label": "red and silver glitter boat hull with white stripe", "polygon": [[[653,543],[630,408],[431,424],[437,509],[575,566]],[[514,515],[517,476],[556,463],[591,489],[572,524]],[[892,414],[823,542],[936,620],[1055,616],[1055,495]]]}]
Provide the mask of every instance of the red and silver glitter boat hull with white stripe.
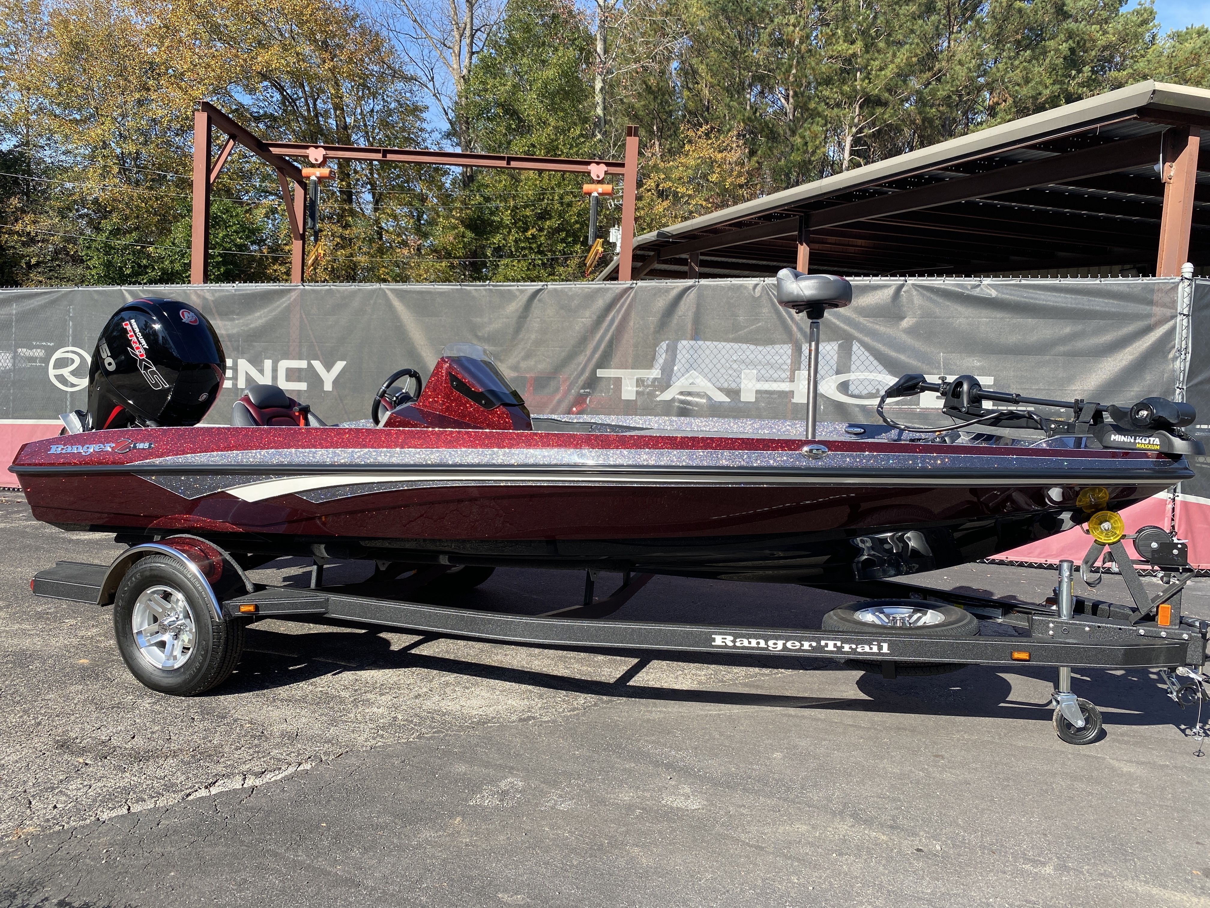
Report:
[{"label": "red and silver glitter boat hull with white stripe", "polygon": [[1083,488],[1120,508],[1189,475],[1151,453],[905,442],[828,442],[807,456],[785,438],[414,429],[76,438],[87,443],[28,444],[12,467],[34,516],[64,528],[189,533],[236,552],[790,582],[987,557],[1078,523]]}]

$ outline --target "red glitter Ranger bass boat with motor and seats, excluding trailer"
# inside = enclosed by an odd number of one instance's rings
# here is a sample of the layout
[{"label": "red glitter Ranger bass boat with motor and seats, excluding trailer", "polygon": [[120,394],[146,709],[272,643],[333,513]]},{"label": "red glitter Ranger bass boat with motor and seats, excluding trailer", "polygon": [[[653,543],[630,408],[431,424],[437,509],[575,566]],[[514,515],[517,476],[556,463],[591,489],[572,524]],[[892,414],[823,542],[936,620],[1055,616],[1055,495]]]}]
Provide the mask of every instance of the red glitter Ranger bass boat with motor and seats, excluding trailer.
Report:
[{"label": "red glitter Ranger bass boat with motor and seats, excluding trailer", "polygon": [[[813,321],[847,301],[840,278],[796,280],[780,299]],[[535,418],[469,344],[446,347],[422,385],[415,370],[393,374],[370,420],[325,426],[260,385],[236,402],[231,426],[196,425],[223,362],[191,306],[123,306],[98,341],[90,410],[67,414],[67,435],[25,444],[11,467],[34,516],[129,544],[189,534],[246,564],[296,554],[477,569],[468,584],[514,565],[826,585],[1059,533],[1088,519],[1089,501],[1117,510],[1189,478],[1181,453],[1197,444],[1179,429],[1188,414],[1158,398],[1150,412],[1136,404],[1142,418],[1127,429],[1082,401],[1064,404],[1074,407],[1064,423],[1020,412],[1061,402],[984,391],[969,377],[905,377],[888,395],[940,390],[950,415],[985,433],[823,424],[805,443],[750,420],[703,431],[674,419]],[[409,393],[401,379],[421,386]],[[1016,409],[984,410],[987,400]],[[1043,431],[1013,442],[1013,426]]]}]

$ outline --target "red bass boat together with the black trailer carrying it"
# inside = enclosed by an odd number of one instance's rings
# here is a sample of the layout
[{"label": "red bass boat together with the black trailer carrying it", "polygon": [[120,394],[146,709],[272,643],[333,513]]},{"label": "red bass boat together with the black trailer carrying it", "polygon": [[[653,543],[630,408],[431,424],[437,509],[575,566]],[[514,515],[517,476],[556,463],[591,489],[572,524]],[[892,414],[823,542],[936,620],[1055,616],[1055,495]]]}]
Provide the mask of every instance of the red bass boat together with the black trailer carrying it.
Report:
[{"label": "red bass boat together with the black trailer carrying it", "polygon": [[[849,292],[842,278],[779,276],[779,301],[811,320],[812,391],[819,321]],[[1152,666],[1186,672],[1174,696],[1204,693],[1205,622],[1181,615],[1177,576],[1192,574],[1172,554],[1183,544],[1159,528],[1146,528],[1154,547],[1136,550],[1160,559],[1147,563],[1171,590],[1140,599],[1137,581],[1130,615],[1074,597],[1070,570],[1056,602],[1033,610],[888,582],[1077,525],[1097,540],[1085,577],[1106,547],[1133,573],[1117,511],[1192,477],[1185,455],[1200,450],[1182,431],[1187,404],[1037,400],[969,375],[905,375],[880,402],[882,425],[817,425],[811,393],[806,438],[757,420],[535,416],[488,351],[451,344],[427,381],[411,368],[388,377],[368,420],[329,426],[260,385],[234,404],[231,425],[200,425],[223,362],[196,309],[127,304],[98,340],[88,410],[64,414],[63,435],[25,444],[10,467],[38,519],[128,544],[111,565],[41,571],[33,590],[113,604],[122,655],[155,690],[220,683],[244,625],[273,616],[540,645],[825,656],[892,677],[970,662]],[[886,416],[888,400],[922,391],[940,393],[957,421]],[[312,561],[312,588],[249,579],[283,556]],[[324,586],[333,559],[374,562],[391,582],[375,596]],[[407,600],[422,586],[471,588],[497,567],[583,570],[586,599],[537,617]],[[603,600],[600,571],[623,575]],[[893,598],[837,609],[812,630],[743,627],[742,607],[734,627],[605,620],[655,574]],[[983,637],[976,614],[1028,636]],[[1067,622],[1059,638],[1055,621]],[[1055,716],[1076,742],[1100,730],[1081,702],[1068,674]]]}]

